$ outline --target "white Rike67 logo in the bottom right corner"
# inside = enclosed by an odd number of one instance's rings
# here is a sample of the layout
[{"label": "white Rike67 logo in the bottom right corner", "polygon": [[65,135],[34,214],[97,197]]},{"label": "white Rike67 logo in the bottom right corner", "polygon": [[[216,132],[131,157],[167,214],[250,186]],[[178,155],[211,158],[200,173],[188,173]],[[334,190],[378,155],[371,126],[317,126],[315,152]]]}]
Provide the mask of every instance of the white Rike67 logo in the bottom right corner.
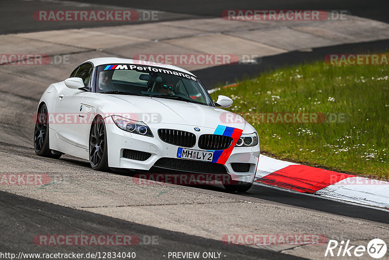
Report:
[{"label": "white Rike67 logo in the bottom right corner", "polygon": [[328,241],[327,249],[325,250],[325,257],[361,257],[368,253],[372,258],[380,259],[385,256],[387,252],[387,245],[381,239],[373,239],[365,247],[364,245],[350,245],[350,240]]}]

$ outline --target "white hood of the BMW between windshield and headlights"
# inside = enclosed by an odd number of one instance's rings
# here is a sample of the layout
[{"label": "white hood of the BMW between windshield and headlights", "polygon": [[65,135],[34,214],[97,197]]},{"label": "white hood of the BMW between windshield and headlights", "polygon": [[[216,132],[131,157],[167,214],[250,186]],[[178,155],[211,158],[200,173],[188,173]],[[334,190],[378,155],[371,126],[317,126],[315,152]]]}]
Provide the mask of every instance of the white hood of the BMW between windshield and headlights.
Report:
[{"label": "white hood of the BMW between windshield and headlights", "polygon": [[[144,123],[164,123],[216,128],[218,125],[244,129],[243,117],[220,108],[158,97],[110,95],[115,113]],[[113,112],[113,111],[109,111]],[[128,118],[128,117],[127,117]]]}]

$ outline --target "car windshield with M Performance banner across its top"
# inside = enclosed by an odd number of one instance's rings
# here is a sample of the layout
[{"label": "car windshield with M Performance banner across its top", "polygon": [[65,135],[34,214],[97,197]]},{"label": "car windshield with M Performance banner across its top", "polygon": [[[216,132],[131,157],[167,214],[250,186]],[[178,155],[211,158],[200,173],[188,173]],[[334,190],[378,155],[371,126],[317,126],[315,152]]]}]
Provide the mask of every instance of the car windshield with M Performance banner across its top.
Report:
[{"label": "car windshield with M Performance banner across its top", "polygon": [[213,106],[207,91],[195,76],[153,66],[98,66],[96,92],[145,95]]}]

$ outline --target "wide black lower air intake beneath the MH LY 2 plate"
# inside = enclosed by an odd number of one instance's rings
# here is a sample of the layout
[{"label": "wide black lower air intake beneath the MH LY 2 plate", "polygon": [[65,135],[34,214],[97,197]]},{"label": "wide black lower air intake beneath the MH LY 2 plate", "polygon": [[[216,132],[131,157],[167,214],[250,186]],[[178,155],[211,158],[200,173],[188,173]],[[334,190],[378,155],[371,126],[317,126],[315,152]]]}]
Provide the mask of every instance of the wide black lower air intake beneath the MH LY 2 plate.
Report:
[{"label": "wide black lower air intake beneath the MH LY 2 plate", "polygon": [[193,173],[227,174],[226,167],[222,164],[176,158],[160,158],[154,167]]}]

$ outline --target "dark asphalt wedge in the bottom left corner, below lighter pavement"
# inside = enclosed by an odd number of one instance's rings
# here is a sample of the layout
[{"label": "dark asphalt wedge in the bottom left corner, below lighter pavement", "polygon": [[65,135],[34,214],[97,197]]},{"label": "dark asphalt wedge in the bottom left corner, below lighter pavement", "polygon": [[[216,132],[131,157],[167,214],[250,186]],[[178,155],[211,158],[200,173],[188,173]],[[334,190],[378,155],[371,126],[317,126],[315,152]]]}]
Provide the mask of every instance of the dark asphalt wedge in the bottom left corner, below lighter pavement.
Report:
[{"label": "dark asphalt wedge in the bottom left corner, below lighter pavement", "polygon": [[[139,237],[133,246],[62,246],[62,253],[136,252],[137,259],[167,259],[168,252],[221,252],[224,259],[301,259],[269,250],[172,232],[98,214],[45,203],[0,191],[0,252],[58,253],[56,246],[37,246],[37,234],[126,234]],[[17,212],[17,213],[16,213]],[[154,242],[150,237],[158,236]]]}]

